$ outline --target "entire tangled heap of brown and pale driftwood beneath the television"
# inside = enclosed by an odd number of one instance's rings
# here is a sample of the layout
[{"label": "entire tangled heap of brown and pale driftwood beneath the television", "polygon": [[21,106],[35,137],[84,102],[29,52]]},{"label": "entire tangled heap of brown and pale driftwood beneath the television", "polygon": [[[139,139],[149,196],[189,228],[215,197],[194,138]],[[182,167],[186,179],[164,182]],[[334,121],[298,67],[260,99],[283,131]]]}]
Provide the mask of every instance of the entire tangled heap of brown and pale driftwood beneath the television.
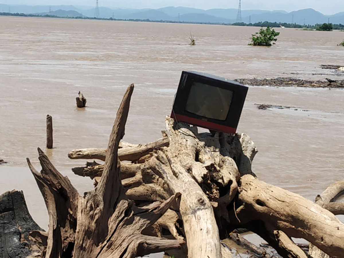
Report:
[{"label": "entire tangled heap of brown and pale driftwood beneath the television", "polygon": [[[170,250],[178,258],[227,258],[221,239],[236,228],[257,233],[285,258],[305,257],[291,237],[343,257],[344,225],[318,204],[258,180],[251,169],[257,148],[243,133],[212,136],[167,117],[159,144],[119,148],[132,90],[117,112],[107,151],[69,153],[105,157],[105,164],[74,169],[96,180],[92,191],[80,196],[40,149],[41,173],[28,160],[49,211],[44,257],[121,258]],[[42,243],[37,235],[32,241]]]}]

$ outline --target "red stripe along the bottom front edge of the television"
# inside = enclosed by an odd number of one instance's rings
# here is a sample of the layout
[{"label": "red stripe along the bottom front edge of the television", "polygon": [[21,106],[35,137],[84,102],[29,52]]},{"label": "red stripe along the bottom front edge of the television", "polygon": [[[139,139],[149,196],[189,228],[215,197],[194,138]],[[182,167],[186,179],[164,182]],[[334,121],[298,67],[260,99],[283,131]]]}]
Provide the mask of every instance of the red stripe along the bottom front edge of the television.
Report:
[{"label": "red stripe along the bottom front edge of the television", "polygon": [[214,131],[225,132],[225,133],[235,133],[236,132],[236,128],[233,128],[233,127],[219,125],[218,123],[208,122],[208,121],[204,121],[202,119],[183,116],[180,114],[174,114],[173,112],[171,114],[171,118],[177,120],[178,122],[182,121],[185,123],[190,123],[191,125],[200,126],[203,128],[214,130]]}]

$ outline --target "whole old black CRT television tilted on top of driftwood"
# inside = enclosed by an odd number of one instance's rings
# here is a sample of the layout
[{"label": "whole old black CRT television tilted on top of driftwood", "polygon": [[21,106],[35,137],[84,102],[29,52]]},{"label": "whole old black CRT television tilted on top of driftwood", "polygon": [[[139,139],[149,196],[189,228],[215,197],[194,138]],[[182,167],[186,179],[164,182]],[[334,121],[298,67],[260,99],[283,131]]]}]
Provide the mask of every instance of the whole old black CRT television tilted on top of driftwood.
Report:
[{"label": "whole old black CRT television tilted on top of driftwood", "polygon": [[183,71],[171,117],[209,130],[235,133],[247,90],[233,80]]}]

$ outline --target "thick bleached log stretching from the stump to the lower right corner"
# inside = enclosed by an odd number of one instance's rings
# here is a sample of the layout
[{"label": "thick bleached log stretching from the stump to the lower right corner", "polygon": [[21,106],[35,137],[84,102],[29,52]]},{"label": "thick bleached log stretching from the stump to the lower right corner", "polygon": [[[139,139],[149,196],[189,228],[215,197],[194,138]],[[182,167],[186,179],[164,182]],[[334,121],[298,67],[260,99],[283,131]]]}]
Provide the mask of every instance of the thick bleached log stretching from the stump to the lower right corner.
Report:
[{"label": "thick bleached log stretching from the stump to the lower right corner", "polygon": [[271,224],[289,237],[304,238],[334,258],[344,253],[344,224],[331,212],[306,198],[259,181],[252,175],[240,179],[237,209],[241,223],[252,218]]}]

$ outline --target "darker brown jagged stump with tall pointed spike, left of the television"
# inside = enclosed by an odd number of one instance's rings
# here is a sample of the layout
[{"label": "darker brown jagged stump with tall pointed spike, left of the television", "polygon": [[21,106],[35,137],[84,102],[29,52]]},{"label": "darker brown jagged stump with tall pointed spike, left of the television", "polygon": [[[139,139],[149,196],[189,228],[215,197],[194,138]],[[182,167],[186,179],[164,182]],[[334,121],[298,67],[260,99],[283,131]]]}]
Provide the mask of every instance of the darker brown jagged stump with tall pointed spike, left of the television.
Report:
[{"label": "darker brown jagged stump with tall pointed spike, left of the television", "polygon": [[104,171],[94,190],[80,196],[40,150],[41,173],[28,164],[49,212],[45,257],[134,258],[166,249],[180,248],[184,240],[144,235],[172,204],[176,192],[164,202],[136,207],[128,200],[120,180],[118,145],[124,135],[133,85],[123,97],[112,128]]}]

